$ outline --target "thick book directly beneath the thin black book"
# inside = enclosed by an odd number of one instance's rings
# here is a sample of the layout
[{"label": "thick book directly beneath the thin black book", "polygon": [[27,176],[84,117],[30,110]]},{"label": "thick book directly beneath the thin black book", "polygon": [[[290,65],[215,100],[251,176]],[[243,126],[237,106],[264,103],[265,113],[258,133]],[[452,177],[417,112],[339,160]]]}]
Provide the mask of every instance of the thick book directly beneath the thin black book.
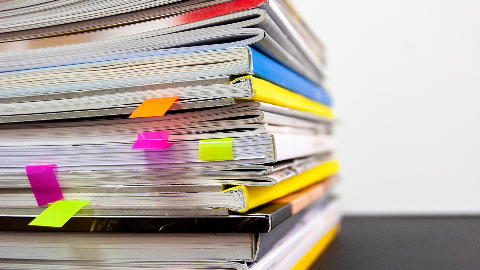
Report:
[{"label": "thick book directly beneath the thin black book", "polygon": [[[61,260],[66,264],[72,260],[97,263],[255,261],[264,254],[266,258],[267,252],[282,240],[295,246],[313,234],[316,243],[339,218],[337,204],[330,201],[292,216],[269,233],[0,232],[0,258]],[[288,237],[283,237],[286,234]]]}]

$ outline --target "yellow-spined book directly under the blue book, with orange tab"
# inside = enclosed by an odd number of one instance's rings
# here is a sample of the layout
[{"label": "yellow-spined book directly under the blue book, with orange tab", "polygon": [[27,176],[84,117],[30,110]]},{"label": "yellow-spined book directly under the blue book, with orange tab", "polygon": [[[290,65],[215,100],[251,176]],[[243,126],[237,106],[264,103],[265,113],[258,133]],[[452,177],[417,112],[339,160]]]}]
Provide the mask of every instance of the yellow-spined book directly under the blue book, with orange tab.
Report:
[{"label": "yellow-spined book directly under the blue book, with orange tab", "polygon": [[[146,99],[180,97],[169,112],[259,101],[315,113],[328,122],[333,110],[263,79],[217,77],[173,83],[0,98],[0,123],[132,114]],[[284,110],[286,111],[286,110]],[[296,114],[290,110],[290,114]],[[283,113],[286,114],[286,113]],[[311,118],[311,117],[310,117]]]}]

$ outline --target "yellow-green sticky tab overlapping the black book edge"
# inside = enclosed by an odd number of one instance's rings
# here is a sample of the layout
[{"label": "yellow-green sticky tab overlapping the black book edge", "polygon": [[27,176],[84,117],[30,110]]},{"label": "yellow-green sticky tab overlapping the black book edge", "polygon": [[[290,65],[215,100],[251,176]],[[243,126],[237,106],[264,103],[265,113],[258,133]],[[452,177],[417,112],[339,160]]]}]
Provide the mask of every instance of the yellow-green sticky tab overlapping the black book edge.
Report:
[{"label": "yellow-green sticky tab overlapping the black book edge", "polygon": [[30,222],[28,225],[61,227],[88,202],[90,201],[56,201],[47,209],[45,209],[40,215],[38,215],[38,217],[35,218],[35,220]]}]

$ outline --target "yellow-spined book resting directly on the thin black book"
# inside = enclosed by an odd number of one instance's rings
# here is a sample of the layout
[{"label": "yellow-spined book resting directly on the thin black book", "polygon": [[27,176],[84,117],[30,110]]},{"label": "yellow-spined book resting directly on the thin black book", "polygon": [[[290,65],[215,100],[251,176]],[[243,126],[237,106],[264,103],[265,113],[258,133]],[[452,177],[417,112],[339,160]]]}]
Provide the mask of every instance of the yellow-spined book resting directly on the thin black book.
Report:
[{"label": "yellow-spined book resting directly on the thin black book", "polygon": [[[90,215],[155,215],[165,209],[228,209],[244,213],[324,180],[336,174],[338,166],[338,161],[328,160],[270,186],[239,185],[214,192],[65,193],[63,197],[91,201],[91,208],[79,212]],[[32,193],[2,193],[0,198],[1,214],[40,214],[45,209],[37,205]]]}]

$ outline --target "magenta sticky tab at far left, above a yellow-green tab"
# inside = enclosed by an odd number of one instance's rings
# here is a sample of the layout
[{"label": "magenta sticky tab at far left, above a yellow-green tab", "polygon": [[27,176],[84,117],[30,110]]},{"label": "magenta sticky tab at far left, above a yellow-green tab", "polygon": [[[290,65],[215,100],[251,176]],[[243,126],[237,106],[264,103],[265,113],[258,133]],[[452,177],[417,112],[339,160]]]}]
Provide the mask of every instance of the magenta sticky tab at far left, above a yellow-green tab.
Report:
[{"label": "magenta sticky tab at far left, above a yellow-green tab", "polygon": [[60,185],[52,168],[55,166],[57,165],[49,164],[25,166],[28,181],[30,181],[30,185],[32,186],[33,194],[35,195],[38,206],[46,205],[50,202],[63,199]]}]

